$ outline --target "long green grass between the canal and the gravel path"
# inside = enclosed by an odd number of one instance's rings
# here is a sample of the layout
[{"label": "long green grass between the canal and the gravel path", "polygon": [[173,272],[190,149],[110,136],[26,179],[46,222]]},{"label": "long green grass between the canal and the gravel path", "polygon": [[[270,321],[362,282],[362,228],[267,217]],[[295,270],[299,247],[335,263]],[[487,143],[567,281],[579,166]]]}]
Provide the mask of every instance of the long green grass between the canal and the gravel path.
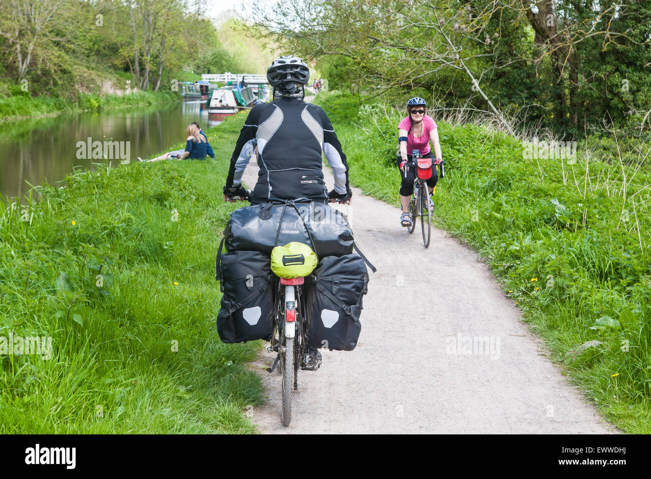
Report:
[{"label": "long green grass between the canal and the gravel path", "polygon": [[[1,433],[255,430],[243,409],[262,386],[242,364],[259,344],[221,343],[214,323],[243,120],[208,130],[215,160],[98,167],[1,209]],[[18,354],[35,336],[50,358]]]}]

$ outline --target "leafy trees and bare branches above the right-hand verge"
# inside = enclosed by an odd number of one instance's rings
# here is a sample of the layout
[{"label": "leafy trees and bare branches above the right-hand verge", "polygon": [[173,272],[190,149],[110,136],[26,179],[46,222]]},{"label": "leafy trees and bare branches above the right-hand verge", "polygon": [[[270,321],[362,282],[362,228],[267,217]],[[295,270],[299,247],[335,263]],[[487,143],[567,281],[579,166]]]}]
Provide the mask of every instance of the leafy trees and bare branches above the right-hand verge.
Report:
[{"label": "leafy trees and bare branches above the right-hand verge", "polygon": [[648,1],[281,0],[256,16],[260,32],[336,64],[335,80],[367,96],[422,87],[509,130],[506,109],[570,135],[604,116],[651,118]]}]

